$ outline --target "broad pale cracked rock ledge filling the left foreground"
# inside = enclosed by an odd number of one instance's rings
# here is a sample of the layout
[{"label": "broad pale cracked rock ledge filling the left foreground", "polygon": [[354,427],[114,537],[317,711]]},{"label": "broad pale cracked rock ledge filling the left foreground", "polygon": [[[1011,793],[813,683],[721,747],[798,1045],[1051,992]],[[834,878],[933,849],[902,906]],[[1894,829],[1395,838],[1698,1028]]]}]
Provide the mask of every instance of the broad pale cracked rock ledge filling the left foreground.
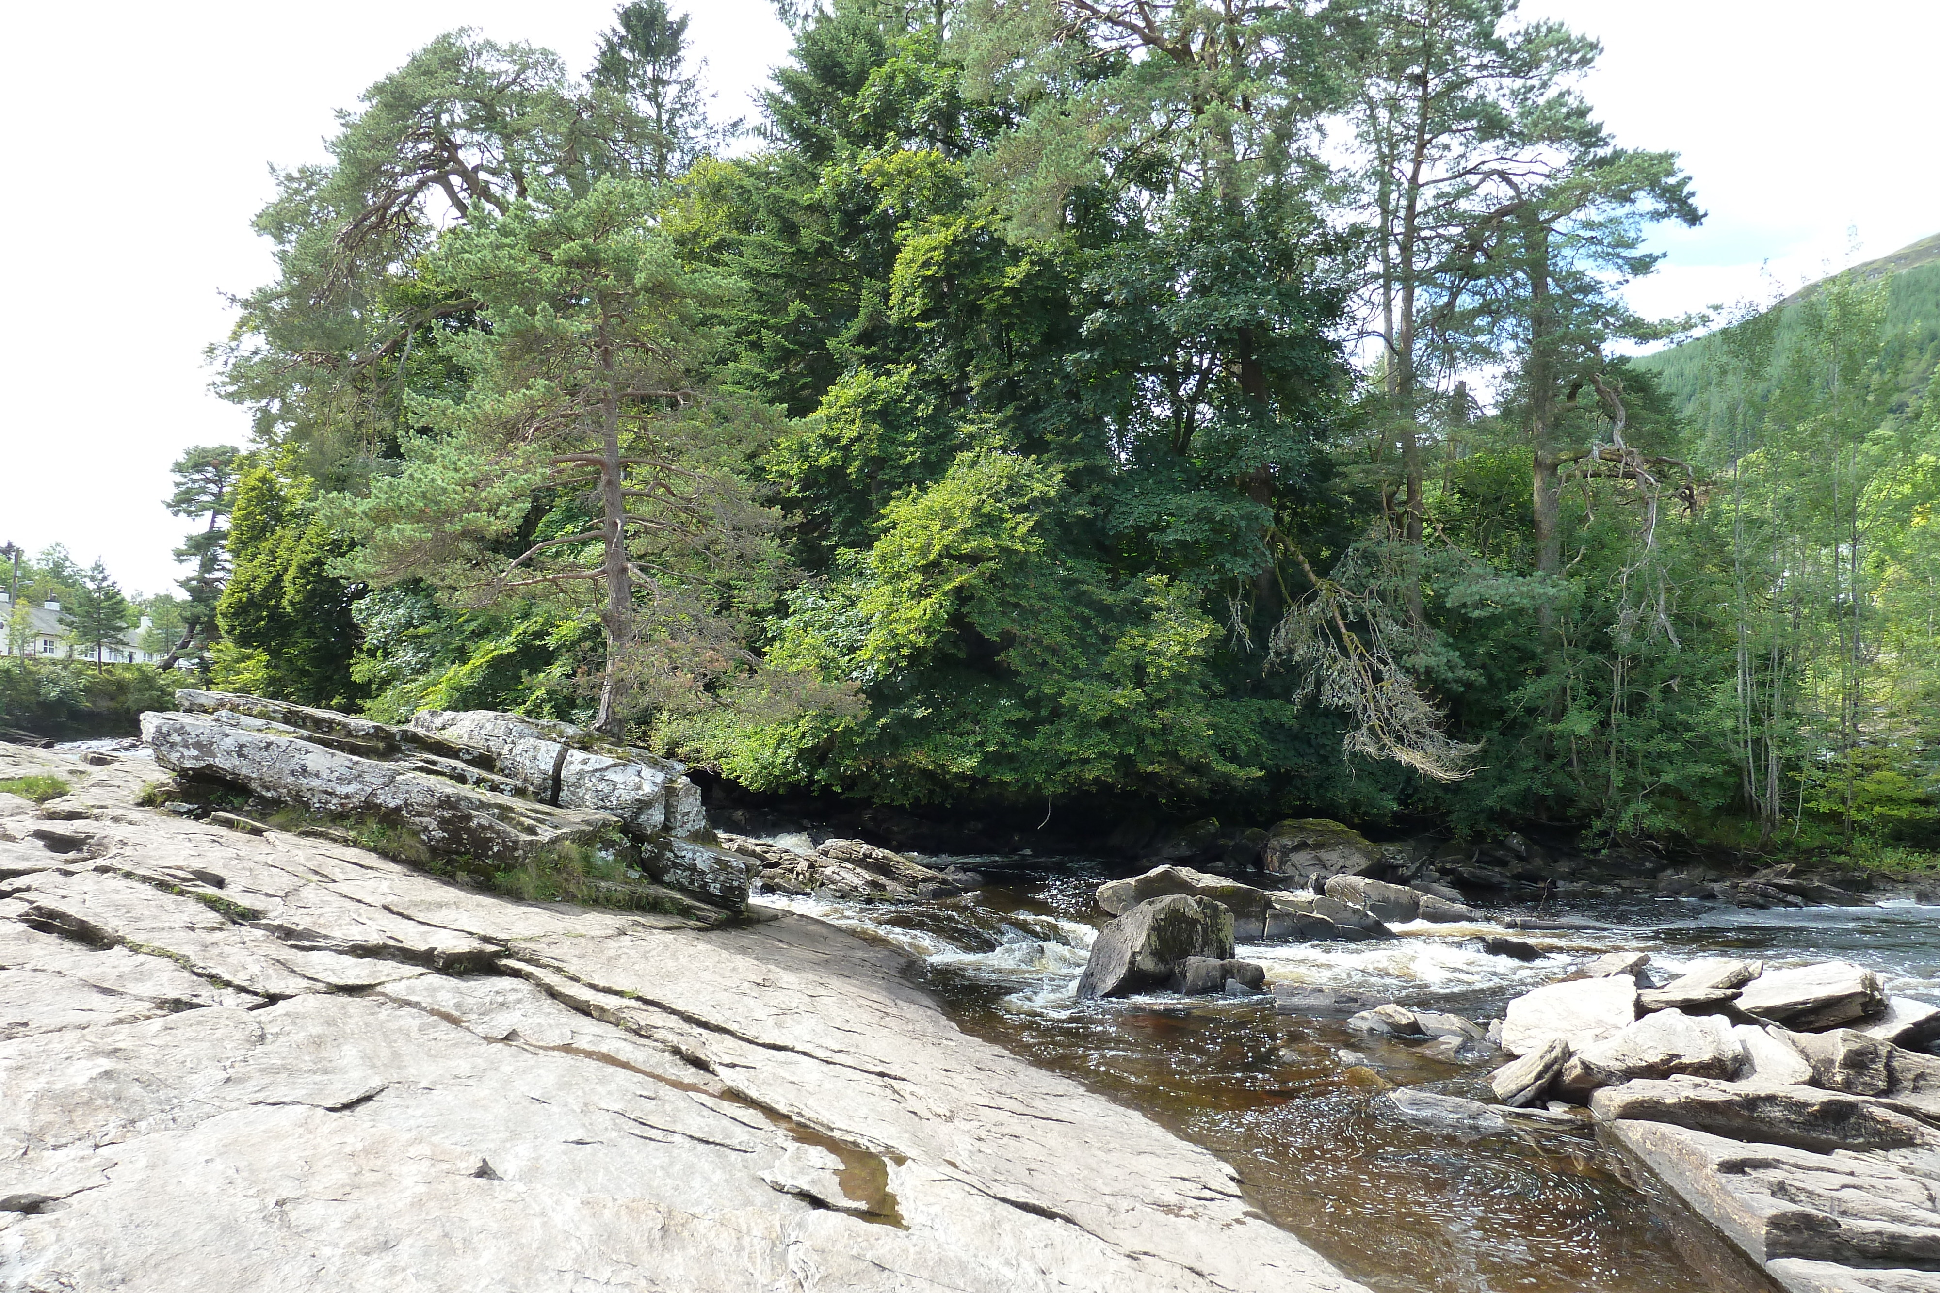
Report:
[{"label": "broad pale cracked rock ledge filling the left foreground", "polygon": [[510,901],[0,744],[29,773],[76,789],[0,799],[0,1289],[1360,1289],[826,925]]}]

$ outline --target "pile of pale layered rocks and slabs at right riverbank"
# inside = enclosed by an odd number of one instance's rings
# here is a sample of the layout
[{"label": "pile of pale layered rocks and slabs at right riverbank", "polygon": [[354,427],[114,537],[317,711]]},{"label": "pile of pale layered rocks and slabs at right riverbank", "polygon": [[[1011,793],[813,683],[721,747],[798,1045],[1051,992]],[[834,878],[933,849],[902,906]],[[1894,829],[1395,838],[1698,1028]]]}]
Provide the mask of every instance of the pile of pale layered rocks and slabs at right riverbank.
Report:
[{"label": "pile of pale layered rocks and slabs at right riverbank", "polygon": [[[1717,960],[1659,989],[1643,956],[1509,1002],[1504,1105],[1589,1101],[1789,1293],[1940,1289],[1940,1058],[1932,1006],[1827,962]],[[1872,1031],[1866,1031],[1872,1029]]]}]

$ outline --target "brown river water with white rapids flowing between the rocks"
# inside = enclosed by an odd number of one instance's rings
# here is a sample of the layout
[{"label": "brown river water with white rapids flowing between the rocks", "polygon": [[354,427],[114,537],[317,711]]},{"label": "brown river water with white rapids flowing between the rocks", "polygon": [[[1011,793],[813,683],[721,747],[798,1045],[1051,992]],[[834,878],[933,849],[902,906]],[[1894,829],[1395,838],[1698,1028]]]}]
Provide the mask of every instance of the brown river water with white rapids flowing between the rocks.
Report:
[{"label": "brown river water with white rapids flowing between the rocks", "polygon": [[[935,861],[935,859],[931,859]],[[1063,1072],[1232,1163],[1249,1202],[1383,1293],[1686,1293],[1762,1289],[1709,1231],[1633,1183],[1587,1130],[1459,1140],[1408,1122],[1389,1086],[1492,1099],[1500,1055],[1441,1060],[1422,1043],[1273,1014],[1271,996],[1154,994],[1079,1002],[1096,886],[1121,868],[1083,859],[947,859],[989,884],[947,901],[857,905],[766,896],[920,960],[966,1031]],[[1616,929],[1527,932],[1403,925],[1372,944],[1242,944],[1269,981],[1354,987],[1472,1020],[1602,952],[1676,969],[1705,956],[1853,960],[1890,991],[1940,1000],[1940,907],[1711,909],[1682,899],[1571,909]],[[1511,932],[1523,963],[1465,948]]]}]

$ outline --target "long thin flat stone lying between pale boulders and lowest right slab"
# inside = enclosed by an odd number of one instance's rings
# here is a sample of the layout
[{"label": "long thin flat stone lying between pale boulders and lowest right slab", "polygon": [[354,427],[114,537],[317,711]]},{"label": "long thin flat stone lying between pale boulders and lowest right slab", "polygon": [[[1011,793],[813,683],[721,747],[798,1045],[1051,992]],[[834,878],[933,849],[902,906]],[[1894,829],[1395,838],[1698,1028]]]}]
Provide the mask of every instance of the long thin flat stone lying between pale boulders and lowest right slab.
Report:
[{"label": "long thin flat stone lying between pale boulders and lowest right slab", "polygon": [[1886,1101],[1810,1086],[1750,1086],[1707,1078],[1637,1080],[1589,1097],[1599,1120],[1672,1122],[1732,1140],[1814,1153],[1940,1148],[1940,1130]]}]

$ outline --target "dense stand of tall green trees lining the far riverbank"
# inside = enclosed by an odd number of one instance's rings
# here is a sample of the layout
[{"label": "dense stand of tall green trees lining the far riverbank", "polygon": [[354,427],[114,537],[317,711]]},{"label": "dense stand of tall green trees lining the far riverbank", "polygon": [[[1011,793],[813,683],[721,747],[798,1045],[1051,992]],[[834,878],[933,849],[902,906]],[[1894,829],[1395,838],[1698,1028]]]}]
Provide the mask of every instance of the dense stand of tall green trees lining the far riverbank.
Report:
[{"label": "dense stand of tall green trees lining the far riverbank", "polygon": [[1940,843],[1917,269],[1626,359],[1703,213],[1511,0],[786,14],[755,122],[638,0],[279,176],[256,440],[178,473],[215,684],[912,808]]}]

